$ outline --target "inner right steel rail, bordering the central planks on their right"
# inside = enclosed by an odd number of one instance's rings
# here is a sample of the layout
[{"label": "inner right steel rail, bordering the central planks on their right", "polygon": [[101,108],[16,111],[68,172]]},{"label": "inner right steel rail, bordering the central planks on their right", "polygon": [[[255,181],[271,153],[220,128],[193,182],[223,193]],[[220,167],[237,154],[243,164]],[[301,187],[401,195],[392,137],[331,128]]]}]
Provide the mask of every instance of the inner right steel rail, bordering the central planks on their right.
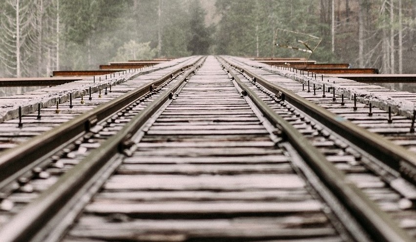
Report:
[{"label": "inner right steel rail, bordering the central planks on their right", "polygon": [[[223,62],[224,63],[224,62]],[[230,70],[229,70],[230,71]],[[247,74],[247,71],[245,71]],[[272,124],[280,127],[291,145],[299,152],[313,171],[330,188],[333,194],[341,201],[348,211],[357,215],[363,229],[375,241],[383,242],[411,242],[410,237],[403,229],[371,201],[354,183],[349,181],[327,158],[314,147],[309,140],[297,131],[289,122],[284,120],[270,108],[254,91],[247,87],[236,74],[230,72],[232,78],[249,96],[256,106]],[[250,76],[250,75],[249,75]],[[354,235],[353,235],[354,236]]]}]

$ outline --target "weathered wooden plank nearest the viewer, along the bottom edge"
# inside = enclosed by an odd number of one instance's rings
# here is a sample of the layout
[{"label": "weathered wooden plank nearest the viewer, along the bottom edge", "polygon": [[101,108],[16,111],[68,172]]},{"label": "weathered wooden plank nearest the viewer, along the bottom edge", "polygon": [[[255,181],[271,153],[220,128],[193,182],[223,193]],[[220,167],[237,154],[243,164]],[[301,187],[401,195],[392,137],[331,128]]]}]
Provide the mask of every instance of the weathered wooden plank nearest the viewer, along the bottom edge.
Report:
[{"label": "weathered wooden plank nearest the viewer, along the bottom edge", "polygon": [[[243,238],[251,239],[306,239],[306,238],[333,238],[336,231],[320,225],[325,219],[309,220],[289,217],[292,220],[284,224],[285,220],[277,223],[275,220],[133,220],[118,223],[103,223],[97,220],[80,221],[70,232],[71,236],[96,238],[118,241],[187,241],[188,239],[205,239],[211,241],[221,238],[235,241]],[[298,223],[293,222],[296,220]],[[305,227],[302,224],[304,221]],[[307,226],[311,224],[311,226]],[[286,225],[286,226],[285,226]],[[297,226],[296,226],[297,225]],[[325,240],[323,240],[325,242]]]}]

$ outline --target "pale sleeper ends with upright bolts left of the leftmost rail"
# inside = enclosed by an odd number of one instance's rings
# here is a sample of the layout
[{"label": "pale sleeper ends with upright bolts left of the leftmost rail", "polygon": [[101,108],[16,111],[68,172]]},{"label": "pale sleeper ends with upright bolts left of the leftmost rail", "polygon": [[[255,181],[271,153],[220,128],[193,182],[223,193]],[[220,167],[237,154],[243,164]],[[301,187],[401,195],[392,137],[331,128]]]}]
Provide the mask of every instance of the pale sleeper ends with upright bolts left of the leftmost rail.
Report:
[{"label": "pale sleeper ends with upright bolts left of the leftmost rail", "polygon": [[[179,69],[187,66],[188,62],[192,60],[184,60],[179,63]],[[173,70],[178,66],[164,66],[159,69],[147,70],[146,74],[138,72],[137,74],[130,74],[130,77],[123,78],[118,75],[121,81],[107,80],[107,76],[88,78],[79,82],[68,83],[66,85],[47,88],[47,92],[64,92],[65,90],[72,90],[71,93],[65,93],[62,97],[58,97],[55,102],[45,103],[39,101],[34,112],[22,114],[21,118],[15,117],[5,120],[0,123],[0,152],[10,149],[32,138],[40,135],[54,127],[67,122],[74,117],[88,112],[99,105],[107,103],[128,91],[135,88],[143,87],[151,80],[163,77],[168,73],[173,73]],[[127,71],[126,71],[127,73]],[[114,74],[115,76],[115,74]],[[94,81],[97,79],[96,81]],[[103,80],[101,80],[103,79]],[[124,80],[127,79],[127,80]],[[102,82],[102,85],[99,83]],[[100,90],[101,89],[101,90]],[[39,94],[38,94],[39,93]],[[81,98],[81,94],[83,97]],[[44,95],[43,91],[35,91],[30,94],[19,95],[19,99],[23,99],[26,103],[33,102],[33,99],[39,99],[38,96]],[[64,97],[64,98],[63,98]],[[18,99],[18,100],[19,100]],[[58,104],[56,104],[58,102]],[[6,103],[3,103],[5,105]],[[24,104],[21,104],[23,106]],[[57,106],[58,105],[58,106]],[[24,109],[24,108],[23,108]]]}]

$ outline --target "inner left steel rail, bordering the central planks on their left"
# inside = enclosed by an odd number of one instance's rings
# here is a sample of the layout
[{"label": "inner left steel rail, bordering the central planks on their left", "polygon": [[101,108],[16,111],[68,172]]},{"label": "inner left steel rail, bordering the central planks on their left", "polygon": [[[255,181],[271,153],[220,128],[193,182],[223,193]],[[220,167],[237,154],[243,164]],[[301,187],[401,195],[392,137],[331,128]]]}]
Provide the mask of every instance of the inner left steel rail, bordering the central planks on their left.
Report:
[{"label": "inner left steel rail, bordering the central planks on their left", "polygon": [[[201,60],[201,59],[199,59]],[[201,62],[200,62],[201,63]],[[97,149],[88,154],[73,169],[62,175],[59,180],[39,198],[28,204],[19,214],[0,230],[2,242],[30,241],[39,234],[47,234],[42,228],[52,229],[45,226],[48,221],[60,213],[60,208],[67,204],[77,204],[79,195],[77,193],[85,190],[84,186],[92,186],[91,179],[103,167],[111,166],[114,161],[111,157],[129,149],[133,144],[131,137],[146,121],[159,110],[169,99],[172,98],[181,85],[187,80],[198,66],[193,66],[185,73],[185,77],[178,80],[171,88],[168,88],[151,104],[147,105],[141,112],[134,116],[116,135],[113,135]],[[86,184],[86,185],[85,185]],[[56,219],[56,217],[55,217]],[[42,241],[42,239],[40,239]]]}]

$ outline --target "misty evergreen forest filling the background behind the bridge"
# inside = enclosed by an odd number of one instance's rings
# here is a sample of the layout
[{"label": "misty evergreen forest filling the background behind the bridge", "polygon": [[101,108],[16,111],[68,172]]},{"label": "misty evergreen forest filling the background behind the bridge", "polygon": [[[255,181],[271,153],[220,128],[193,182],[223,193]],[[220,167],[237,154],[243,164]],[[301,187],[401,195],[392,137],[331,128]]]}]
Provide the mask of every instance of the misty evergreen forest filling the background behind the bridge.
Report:
[{"label": "misty evergreen forest filling the background behind the bridge", "polygon": [[196,54],[307,57],[273,48],[276,28],[321,37],[320,62],[416,72],[416,0],[2,0],[0,12],[3,77]]}]

